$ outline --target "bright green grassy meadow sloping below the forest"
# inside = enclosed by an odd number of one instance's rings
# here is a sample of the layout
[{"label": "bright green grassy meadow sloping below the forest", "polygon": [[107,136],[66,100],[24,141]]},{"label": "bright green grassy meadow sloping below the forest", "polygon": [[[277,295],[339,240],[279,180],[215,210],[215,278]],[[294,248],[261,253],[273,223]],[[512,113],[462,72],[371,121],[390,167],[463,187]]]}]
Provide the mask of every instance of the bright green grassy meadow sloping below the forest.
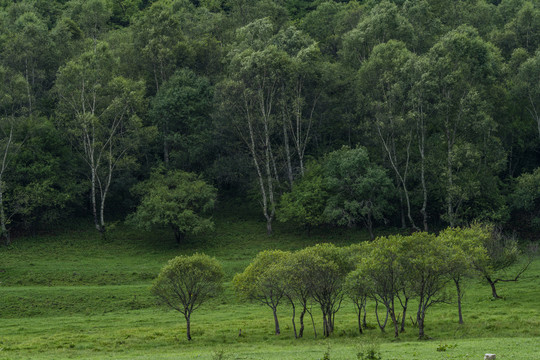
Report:
[{"label": "bright green grassy meadow sloping below the forest", "polygon": [[[428,341],[416,340],[410,322],[399,340],[391,329],[381,333],[372,308],[371,329],[358,335],[349,303],[338,312],[329,339],[315,339],[308,326],[305,337],[295,340],[287,306],[279,310],[282,334],[275,336],[268,308],[235,298],[230,286],[234,274],[263,249],[348,245],[367,234],[329,229],[308,237],[276,224],[268,237],[264,223],[242,214],[217,216],[214,233],[193,237],[181,247],[167,230],[147,233],[119,225],[102,240],[89,224],[78,224],[0,248],[0,359],[284,360],[322,359],[325,353],[329,359],[357,359],[370,347],[382,359],[483,359],[488,352],[497,359],[540,359],[539,260],[519,282],[500,284],[503,300],[492,301],[488,285],[469,280],[465,324],[457,324],[455,304],[438,305],[426,318]],[[157,306],[149,287],[168,259],[194,252],[220,260],[227,283],[222,296],[193,314],[194,340],[188,342],[183,317]],[[322,332],[318,312],[314,315]]]}]

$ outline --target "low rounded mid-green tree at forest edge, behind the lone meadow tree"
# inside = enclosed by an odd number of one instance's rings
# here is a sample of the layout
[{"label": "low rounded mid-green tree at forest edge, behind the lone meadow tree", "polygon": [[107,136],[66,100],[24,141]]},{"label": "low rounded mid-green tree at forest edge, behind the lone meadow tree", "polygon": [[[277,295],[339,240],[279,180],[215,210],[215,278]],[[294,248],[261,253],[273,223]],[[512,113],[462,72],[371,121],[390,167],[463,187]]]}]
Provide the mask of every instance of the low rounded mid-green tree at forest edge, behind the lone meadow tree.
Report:
[{"label": "low rounded mid-green tree at forest edge, behind the lone meadow tree", "polygon": [[205,214],[214,208],[216,189],[194,173],[158,168],[150,179],[137,184],[133,192],[142,199],[128,222],[138,227],[170,226],[178,244],[186,234],[214,227]]}]

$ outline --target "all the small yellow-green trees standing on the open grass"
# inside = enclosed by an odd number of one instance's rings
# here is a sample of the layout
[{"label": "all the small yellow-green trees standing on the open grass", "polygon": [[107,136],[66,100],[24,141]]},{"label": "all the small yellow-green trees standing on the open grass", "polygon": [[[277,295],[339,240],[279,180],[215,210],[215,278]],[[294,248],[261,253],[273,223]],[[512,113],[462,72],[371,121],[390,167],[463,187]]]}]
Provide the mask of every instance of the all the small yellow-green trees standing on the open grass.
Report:
[{"label": "all the small yellow-green trees standing on the open grass", "polygon": [[[419,337],[424,338],[428,310],[451,300],[445,291],[448,286],[455,287],[459,322],[463,323],[462,280],[480,275],[498,297],[497,282],[517,281],[530,264],[531,257],[513,277],[498,277],[500,270],[519,260],[520,254],[515,239],[505,238],[491,227],[474,225],[448,228],[438,235],[415,232],[379,237],[348,247],[318,244],[295,252],[265,250],[234,277],[233,286],[244,299],[272,310],[276,335],[280,334],[278,307],[289,303],[295,338],[304,334],[306,315],[317,336],[314,308],[322,313],[323,335],[330,336],[335,315],[348,297],[356,307],[360,333],[366,327],[366,303],[370,300],[375,303],[380,329],[384,331],[390,319],[395,337],[404,331],[410,300],[416,300],[414,322]],[[222,278],[216,259],[200,254],[177,257],[162,270],[153,292],[184,314],[191,339],[191,312],[219,292]]]}]

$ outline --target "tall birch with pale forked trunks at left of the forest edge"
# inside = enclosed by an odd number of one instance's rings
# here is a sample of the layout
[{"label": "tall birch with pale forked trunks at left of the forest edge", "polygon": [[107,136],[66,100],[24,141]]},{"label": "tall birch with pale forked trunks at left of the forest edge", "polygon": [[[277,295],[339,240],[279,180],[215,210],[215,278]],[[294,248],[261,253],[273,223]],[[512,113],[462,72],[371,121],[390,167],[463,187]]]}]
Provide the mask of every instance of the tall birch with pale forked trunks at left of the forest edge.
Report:
[{"label": "tall birch with pale forked trunks at left of the forest edge", "polygon": [[137,112],[144,85],[114,69],[115,59],[100,42],[63,66],[56,83],[61,126],[87,165],[94,224],[102,234],[115,170],[134,164],[131,155],[143,137]]}]

